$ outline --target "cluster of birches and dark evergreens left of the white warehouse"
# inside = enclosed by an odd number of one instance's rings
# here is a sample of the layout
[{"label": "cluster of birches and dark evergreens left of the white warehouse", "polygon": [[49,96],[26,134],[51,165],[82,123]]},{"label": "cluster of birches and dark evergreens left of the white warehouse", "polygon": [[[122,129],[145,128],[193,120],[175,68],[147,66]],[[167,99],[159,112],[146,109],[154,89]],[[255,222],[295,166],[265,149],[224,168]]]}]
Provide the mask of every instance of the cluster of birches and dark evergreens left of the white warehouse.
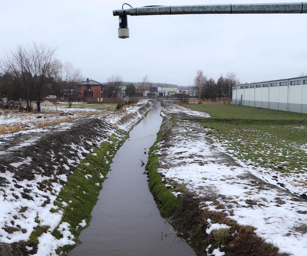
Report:
[{"label": "cluster of birches and dark evergreens left of the white warehouse", "polygon": [[230,99],[232,97],[232,87],[238,83],[236,73],[228,72],[226,77],[221,76],[217,81],[208,79],[203,70],[197,70],[194,78],[194,90],[199,99]]}]

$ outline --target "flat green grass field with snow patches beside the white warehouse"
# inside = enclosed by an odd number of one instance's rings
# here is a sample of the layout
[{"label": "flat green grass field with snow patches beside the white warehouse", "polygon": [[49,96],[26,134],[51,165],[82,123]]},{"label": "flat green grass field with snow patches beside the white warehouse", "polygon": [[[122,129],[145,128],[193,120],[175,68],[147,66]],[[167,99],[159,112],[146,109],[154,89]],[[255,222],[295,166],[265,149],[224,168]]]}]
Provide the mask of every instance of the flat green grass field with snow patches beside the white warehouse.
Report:
[{"label": "flat green grass field with snow patches beside the white warehouse", "polygon": [[214,103],[187,107],[210,113],[201,118],[208,133],[246,164],[285,176],[307,171],[307,114]]}]

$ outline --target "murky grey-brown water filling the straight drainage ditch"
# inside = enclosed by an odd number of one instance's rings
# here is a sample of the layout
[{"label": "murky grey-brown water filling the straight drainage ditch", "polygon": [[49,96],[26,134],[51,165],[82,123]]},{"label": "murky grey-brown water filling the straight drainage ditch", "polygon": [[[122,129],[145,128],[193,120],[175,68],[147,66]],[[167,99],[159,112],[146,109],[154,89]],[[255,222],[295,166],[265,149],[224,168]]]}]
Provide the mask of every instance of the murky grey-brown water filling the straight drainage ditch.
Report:
[{"label": "murky grey-brown water filling the straight drainage ditch", "polygon": [[156,140],[160,111],[157,103],[117,151],[90,226],[79,236],[82,244],[69,255],[196,255],[160,216],[143,174],[141,160],[147,162],[149,147]]}]

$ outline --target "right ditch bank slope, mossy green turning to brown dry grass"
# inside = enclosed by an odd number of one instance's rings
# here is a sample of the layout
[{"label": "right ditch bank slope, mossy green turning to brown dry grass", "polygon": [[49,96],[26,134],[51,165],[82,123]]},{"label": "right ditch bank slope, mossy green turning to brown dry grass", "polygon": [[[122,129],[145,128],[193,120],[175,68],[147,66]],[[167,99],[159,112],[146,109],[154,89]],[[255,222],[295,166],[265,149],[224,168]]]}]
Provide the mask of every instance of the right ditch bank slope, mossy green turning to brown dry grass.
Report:
[{"label": "right ditch bank slope, mossy green turning to brown dry grass", "polygon": [[[174,121],[172,122],[175,123]],[[165,129],[162,130],[165,131]],[[197,199],[193,199],[191,194],[186,194],[187,191],[183,191],[183,197],[177,199],[166,188],[157,170],[157,151],[159,150],[159,142],[162,141],[164,136],[167,137],[168,133],[159,132],[157,134],[156,142],[150,147],[148,162],[146,164],[146,171],[149,177],[149,190],[159,203],[161,216],[166,218],[175,212],[175,224],[177,228],[181,226],[186,229],[187,226],[190,226],[191,230],[185,230],[185,232],[192,233],[190,240],[187,240],[187,242],[199,254],[205,254],[208,245],[212,244],[213,248],[223,245],[223,250],[231,255],[251,255],[251,253],[252,255],[262,256],[278,255],[278,248],[257,237],[254,233],[255,228],[239,225],[235,220],[229,219],[228,215],[223,212],[209,211],[208,209],[200,210]],[[226,224],[230,228],[219,228],[212,231],[210,235],[207,235],[208,219],[211,219],[212,223]],[[178,231],[181,232],[180,229]],[[233,236],[233,233],[237,235]]]}]

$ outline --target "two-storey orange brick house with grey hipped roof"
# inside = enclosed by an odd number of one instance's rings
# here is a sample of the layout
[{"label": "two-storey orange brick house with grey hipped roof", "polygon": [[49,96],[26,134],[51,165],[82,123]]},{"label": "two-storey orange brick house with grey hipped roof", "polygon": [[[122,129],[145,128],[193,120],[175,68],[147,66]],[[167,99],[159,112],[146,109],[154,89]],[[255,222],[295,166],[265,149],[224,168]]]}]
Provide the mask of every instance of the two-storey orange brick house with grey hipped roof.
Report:
[{"label": "two-storey orange brick house with grey hipped roof", "polygon": [[103,90],[106,87],[105,84],[99,83],[94,80],[87,79],[84,82],[77,83],[77,97],[81,98],[98,98],[103,97]]}]

